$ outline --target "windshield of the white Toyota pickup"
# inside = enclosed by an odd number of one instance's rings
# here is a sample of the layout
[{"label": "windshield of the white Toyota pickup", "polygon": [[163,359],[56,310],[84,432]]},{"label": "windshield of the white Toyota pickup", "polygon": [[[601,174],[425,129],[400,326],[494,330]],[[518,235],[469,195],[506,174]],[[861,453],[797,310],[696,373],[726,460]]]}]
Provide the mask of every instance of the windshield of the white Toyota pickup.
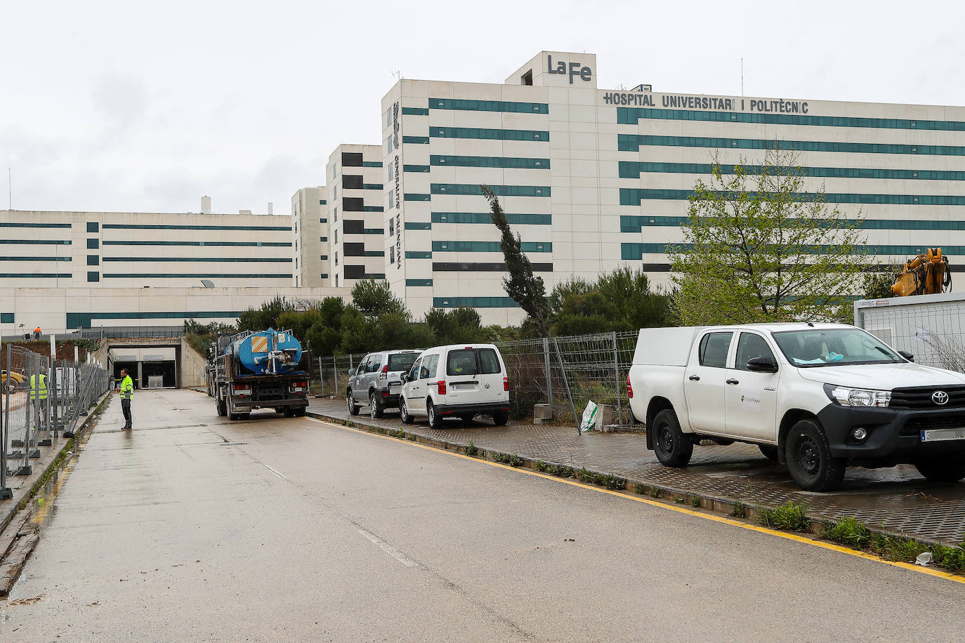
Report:
[{"label": "windshield of the white Toyota pickup", "polygon": [[814,329],[774,334],[788,362],[800,368],[904,362],[880,339],[858,329]]}]

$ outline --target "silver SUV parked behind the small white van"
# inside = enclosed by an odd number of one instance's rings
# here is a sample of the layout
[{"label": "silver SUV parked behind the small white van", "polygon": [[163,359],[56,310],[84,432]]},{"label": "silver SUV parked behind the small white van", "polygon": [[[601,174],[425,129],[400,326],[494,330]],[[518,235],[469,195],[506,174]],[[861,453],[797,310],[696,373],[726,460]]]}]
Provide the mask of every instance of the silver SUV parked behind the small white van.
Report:
[{"label": "silver SUV parked behind the small white van", "polygon": [[365,356],[358,368],[348,371],[348,388],[345,389],[348,413],[358,415],[359,406],[368,404],[374,419],[381,417],[386,409],[398,408],[401,374],[408,371],[421,354],[421,349],[415,349],[381,351]]}]

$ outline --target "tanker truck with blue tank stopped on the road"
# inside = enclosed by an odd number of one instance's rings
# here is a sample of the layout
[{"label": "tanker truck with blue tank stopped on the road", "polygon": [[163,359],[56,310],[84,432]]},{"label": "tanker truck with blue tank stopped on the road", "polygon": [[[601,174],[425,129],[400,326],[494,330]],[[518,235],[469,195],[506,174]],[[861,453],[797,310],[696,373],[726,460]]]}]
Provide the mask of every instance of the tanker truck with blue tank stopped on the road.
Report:
[{"label": "tanker truck with blue tank stopped on the road", "polygon": [[219,334],[214,348],[218,415],[245,419],[253,409],[305,415],[312,357],[290,331]]}]

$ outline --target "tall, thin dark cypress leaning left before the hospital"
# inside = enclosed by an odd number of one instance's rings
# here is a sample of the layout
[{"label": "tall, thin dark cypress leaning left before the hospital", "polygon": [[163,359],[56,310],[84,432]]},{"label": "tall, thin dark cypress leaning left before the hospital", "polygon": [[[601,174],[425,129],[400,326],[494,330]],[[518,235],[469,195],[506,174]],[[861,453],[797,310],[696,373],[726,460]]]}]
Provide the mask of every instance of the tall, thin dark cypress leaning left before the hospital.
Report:
[{"label": "tall, thin dark cypress leaning left before the hospital", "polygon": [[506,258],[509,279],[503,278],[503,288],[512,301],[519,304],[529,316],[528,321],[539,335],[549,335],[549,304],[546,301],[546,286],[542,278],[533,274],[533,264],[523,253],[523,240],[510,230],[510,221],[496,198],[496,193],[488,185],[483,185],[483,196],[492,208],[492,223],[502,233],[499,243]]}]

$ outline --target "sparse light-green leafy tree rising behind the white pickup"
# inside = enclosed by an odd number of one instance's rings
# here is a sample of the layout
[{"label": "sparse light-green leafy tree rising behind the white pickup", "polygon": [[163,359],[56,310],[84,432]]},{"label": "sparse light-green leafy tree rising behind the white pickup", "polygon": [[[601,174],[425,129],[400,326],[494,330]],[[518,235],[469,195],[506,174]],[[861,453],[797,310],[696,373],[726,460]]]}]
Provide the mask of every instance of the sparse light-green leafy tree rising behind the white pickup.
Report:
[{"label": "sparse light-green leafy tree rising behind the white pickup", "polygon": [[690,198],[682,243],[672,246],[674,307],[681,323],[840,319],[869,264],[861,216],[847,220],[807,193],[793,150],[768,150],[760,166],[722,167]]}]

